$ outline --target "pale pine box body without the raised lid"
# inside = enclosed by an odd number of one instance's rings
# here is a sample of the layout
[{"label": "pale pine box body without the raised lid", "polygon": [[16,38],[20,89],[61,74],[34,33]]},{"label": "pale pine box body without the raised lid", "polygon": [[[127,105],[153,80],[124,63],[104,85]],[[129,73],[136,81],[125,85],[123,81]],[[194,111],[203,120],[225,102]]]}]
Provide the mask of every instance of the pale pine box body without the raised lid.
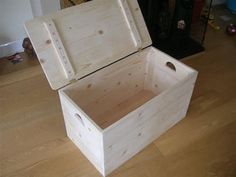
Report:
[{"label": "pale pine box body without the raised lid", "polygon": [[59,91],[68,136],[106,176],[186,115],[196,77],[155,48],[133,54]]}]

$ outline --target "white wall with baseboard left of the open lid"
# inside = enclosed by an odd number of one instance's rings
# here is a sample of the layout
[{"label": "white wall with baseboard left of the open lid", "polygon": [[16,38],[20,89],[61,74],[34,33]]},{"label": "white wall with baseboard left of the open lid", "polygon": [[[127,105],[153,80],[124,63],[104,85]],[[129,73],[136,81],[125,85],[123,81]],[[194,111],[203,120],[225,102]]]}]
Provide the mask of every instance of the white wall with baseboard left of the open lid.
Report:
[{"label": "white wall with baseboard left of the open lid", "polygon": [[24,23],[60,9],[60,0],[0,0],[0,57],[23,51]]}]

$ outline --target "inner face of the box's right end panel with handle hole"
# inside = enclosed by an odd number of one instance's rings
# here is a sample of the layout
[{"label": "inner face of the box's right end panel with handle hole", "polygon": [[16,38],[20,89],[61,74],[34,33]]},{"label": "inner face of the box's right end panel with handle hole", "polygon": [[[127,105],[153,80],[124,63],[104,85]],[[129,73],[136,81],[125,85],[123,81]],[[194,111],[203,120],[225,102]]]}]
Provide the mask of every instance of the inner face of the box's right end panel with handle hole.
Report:
[{"label": "inner face of the box's right end panel with handle hole", "polygon": [[150,47],[147,56],[145,85],[147,89],[153,90],[155,86],[158,86],[158,89],[163,91],[194,72],[196,71],[180,61]]}]

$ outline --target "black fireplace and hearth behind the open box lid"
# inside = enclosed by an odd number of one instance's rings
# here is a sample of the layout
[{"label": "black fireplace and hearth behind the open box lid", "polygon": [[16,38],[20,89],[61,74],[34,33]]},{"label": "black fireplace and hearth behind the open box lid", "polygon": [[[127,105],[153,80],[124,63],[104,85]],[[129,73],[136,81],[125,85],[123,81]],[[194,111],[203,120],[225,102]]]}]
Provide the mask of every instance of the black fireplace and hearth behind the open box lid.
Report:
[{"label": "black fireplace and hearth behind the open box lid", "polygon": [[200,17],[201,1],[138,0],[153,45],[177,59],[204,51],[208,16]]}]

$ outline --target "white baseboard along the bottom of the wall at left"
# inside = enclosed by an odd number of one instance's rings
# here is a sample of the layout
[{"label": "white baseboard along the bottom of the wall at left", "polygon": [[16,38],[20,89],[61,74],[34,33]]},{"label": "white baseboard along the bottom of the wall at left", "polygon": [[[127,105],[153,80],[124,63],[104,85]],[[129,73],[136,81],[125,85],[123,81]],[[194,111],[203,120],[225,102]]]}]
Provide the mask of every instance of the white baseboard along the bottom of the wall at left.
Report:
[{"label": "white baseboard along the bottom of the wall at left", "polygon": [[6,44],[0,44],[0,58],[23,52],[23,40],[13,41]]}]

